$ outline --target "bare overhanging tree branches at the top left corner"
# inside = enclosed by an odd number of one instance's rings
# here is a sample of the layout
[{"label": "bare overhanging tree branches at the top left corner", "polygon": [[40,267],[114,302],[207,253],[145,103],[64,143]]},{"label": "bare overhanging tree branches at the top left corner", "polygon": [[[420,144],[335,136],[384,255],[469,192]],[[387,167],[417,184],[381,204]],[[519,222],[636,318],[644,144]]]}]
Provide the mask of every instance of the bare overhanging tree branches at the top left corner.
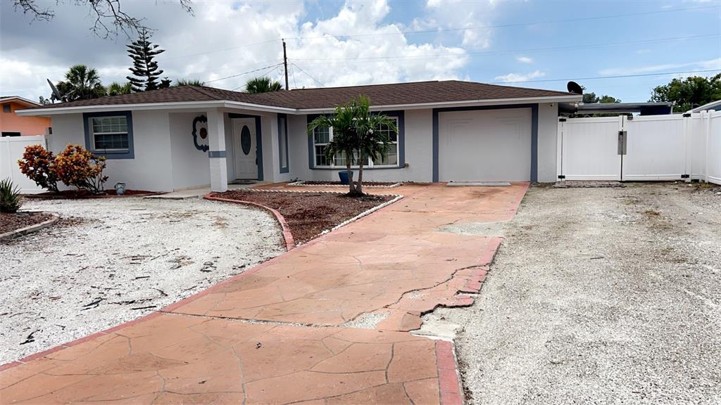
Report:
[{"label": "bare overhanging tree branches at the top left corner", "polygon": [[[48,1],[44,0],[12,0],[16,11],[22,11],[23,14],[30,14],[32,19],[50,21],[55,17],[55,10],[45,7]],[[193,15],[193,7],[191,0],[178,0],[180,6],[185,12]],[[119,32],[131,37],[131,34],[147,29],[143,25],[143,19],[133,17],[125,12],[121,7],[121,0],[56,0],[56,4],[78,4],[84,5],[88,9],[90,19],[94,21],[94,25],[90,28],[95,35],[99,37],[117,36]],[[42,5],[40,5],[40,4]]]}]

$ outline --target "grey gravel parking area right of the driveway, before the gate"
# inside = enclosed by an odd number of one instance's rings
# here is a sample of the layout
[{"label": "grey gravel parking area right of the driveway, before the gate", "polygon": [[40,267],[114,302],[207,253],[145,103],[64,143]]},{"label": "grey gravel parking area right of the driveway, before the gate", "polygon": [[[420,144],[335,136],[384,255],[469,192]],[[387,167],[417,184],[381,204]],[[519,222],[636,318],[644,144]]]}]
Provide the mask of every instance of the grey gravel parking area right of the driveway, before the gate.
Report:
[{"label": "grey gravel parking area right of the driveway, before the gate", "polygon": [[456,340],[472,404],[720,404],[721,187],[531,187]]}]

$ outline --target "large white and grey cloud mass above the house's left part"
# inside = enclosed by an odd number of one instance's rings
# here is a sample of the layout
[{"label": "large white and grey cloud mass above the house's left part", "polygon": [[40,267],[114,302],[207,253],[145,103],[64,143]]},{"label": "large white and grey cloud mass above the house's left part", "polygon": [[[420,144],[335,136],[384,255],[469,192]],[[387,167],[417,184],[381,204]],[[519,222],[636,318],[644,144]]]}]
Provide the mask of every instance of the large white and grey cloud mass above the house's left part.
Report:
[{"label": "large white and grey cloud mass above the house's left part", "polygon": [[[14,13],[12,4],[2,2],[1,7],[3,93],[30,99],[47,96],[45,77],[60,80],[76,63],[97,68],[104,84],[125,81],[131,64],[125,54],[126,38],[113,42],[93,37],[78,7],[59,4],[52,22],[32,25]],[[348,0],[331,16],[312,22],[300,0],[198,2],[194,9],[195,17],[176,4],[128,3],[126,11],[146,17],[156,29],[154,43],[166,49],[157,58],[163,76],[209,81],[275,65],[282,61],[279,39],[283,37],[292,63],[291,88],[318,86],[314,79],[325,86],[459,79],[469,61],[466,50],[442,45],[443,38],[414,42],[403,35],[407,28],[386,21],[390,12],[386,0]],[[235,89],[260,74],[282,79],[280,69],[267,68],[208,85]]]}]

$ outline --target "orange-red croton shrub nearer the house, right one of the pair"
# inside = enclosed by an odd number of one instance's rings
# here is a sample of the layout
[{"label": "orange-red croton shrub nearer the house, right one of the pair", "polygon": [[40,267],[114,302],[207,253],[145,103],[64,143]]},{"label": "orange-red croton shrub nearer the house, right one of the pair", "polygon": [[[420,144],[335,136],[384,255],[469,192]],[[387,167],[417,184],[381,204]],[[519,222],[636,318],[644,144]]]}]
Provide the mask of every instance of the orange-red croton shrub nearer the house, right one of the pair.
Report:
[{"label": "orange-red croton shrub nearer the house, right one of the pair", "polygon": [[107,176],[102,175],[103,169],[105,157],[95,156],[80,145],[68,145],[55,158],[55,171],[63,184],[94,194],[104,190]]}]

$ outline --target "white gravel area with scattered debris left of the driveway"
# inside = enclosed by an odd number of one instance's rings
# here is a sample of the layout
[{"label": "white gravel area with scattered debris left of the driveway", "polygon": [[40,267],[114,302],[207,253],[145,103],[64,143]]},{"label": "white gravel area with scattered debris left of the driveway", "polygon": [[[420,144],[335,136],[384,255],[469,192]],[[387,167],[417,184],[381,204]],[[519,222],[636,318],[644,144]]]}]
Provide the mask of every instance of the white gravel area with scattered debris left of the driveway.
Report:
[{"label": "white gravel area with scattered debris left of the driveway", "polygon": [[264,210],[205,200],[26,200],[61,215],[0,242],[0,363],[198,293],[285,252]]}]

